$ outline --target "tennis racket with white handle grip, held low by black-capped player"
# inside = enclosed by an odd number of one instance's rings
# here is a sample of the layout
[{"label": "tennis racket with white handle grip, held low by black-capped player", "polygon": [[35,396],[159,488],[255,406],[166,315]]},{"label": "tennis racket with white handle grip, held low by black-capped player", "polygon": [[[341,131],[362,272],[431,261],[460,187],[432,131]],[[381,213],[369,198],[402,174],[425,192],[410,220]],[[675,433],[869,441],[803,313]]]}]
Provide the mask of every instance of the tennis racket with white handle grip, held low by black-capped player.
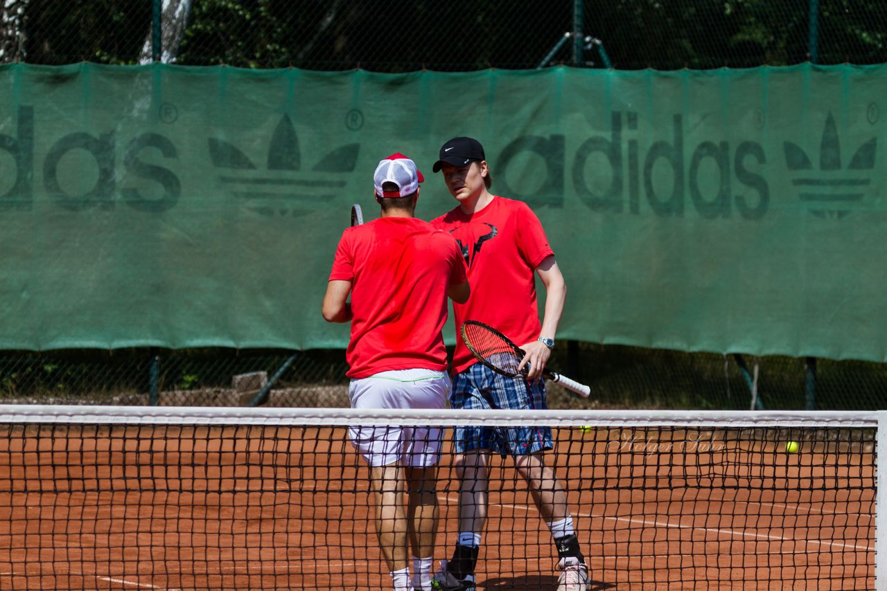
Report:
[{"label": "tennis racket with white handle grip, held low by black-capped player", "polygon": [[[507,377],[526,375],[526,368],[517,369],[526,352],[498,330],[476,320],[467,320],[462,324],[460,332],[468,350],[483,365]],[[592,389],[587,385],[579,384],[554,371],[546,370],[542,375],[583,398],[588,398],[592,393]]]}]

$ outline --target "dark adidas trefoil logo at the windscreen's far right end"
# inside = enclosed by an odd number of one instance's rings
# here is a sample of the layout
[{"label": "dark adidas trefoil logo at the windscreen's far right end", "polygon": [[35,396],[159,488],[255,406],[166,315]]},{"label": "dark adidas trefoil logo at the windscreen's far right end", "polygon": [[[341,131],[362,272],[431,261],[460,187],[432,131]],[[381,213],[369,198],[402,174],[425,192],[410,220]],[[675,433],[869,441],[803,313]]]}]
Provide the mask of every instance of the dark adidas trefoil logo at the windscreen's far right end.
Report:
[{"label": "dark adidas trefoil logo at the windscreen's far right end", "polygon": [[865,198],[871,178],[864,171],[875,167],[877,138],[860,145],[844,170],[835,118],[828,113],[822,129],[819,170],[813,167],[812,160],[799,145],[785,142],[783,149],[789,171],[797,173],[791,183],[800,191],[798,197],[811,214],[840,219],[850,214],[853,206]]}]

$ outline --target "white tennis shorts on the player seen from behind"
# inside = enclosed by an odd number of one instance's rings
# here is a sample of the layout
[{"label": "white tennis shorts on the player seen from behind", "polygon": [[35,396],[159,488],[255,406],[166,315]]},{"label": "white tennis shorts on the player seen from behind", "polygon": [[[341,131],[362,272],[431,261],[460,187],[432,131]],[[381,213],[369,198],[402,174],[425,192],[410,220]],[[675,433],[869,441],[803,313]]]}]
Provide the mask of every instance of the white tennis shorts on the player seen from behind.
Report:
[{"label": "white tennis shorts on the player seen from behind", "polygon": [[[351,408],[446,408],[450,376],[433,369],[396,369],[352,379]],[[371,466],[400,462],[433,466],[440,460],[442,427],[350,426],[349,437]]]}]

